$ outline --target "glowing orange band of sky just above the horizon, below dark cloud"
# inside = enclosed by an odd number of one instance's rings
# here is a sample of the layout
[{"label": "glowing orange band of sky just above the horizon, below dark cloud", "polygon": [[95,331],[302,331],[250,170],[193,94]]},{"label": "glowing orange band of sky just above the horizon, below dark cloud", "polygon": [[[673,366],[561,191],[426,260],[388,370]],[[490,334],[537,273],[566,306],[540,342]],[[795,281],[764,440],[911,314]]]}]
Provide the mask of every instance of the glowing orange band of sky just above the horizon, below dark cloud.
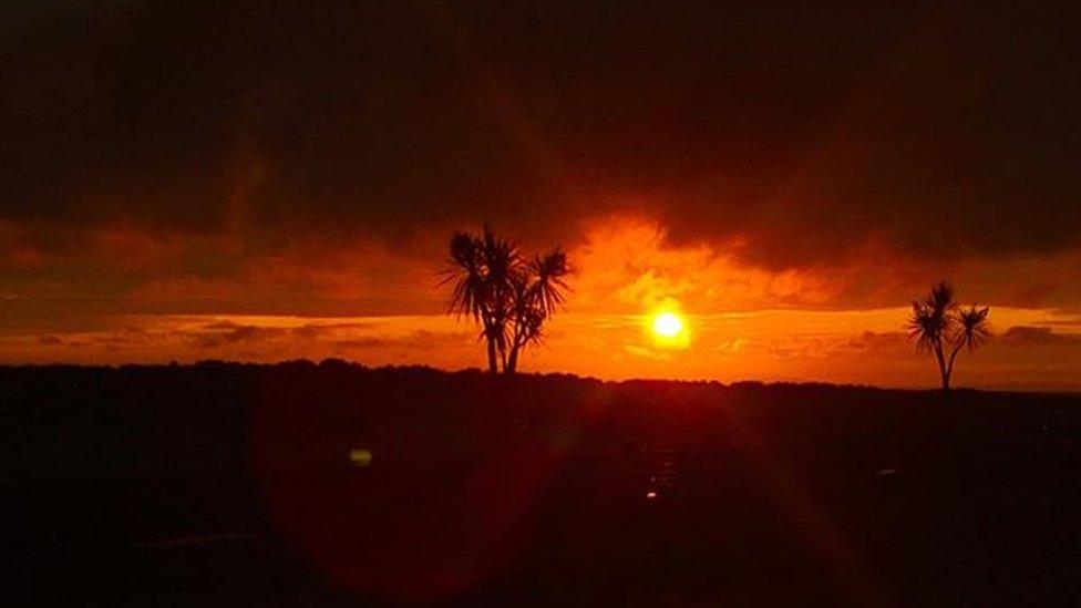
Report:
[{"label": "glowing orange band of sky just above the horizon, below dark cloud", "polygon": [[[962,302],[970,293],[992,296],[1006,287],[964,265],[920,268],[912,277],[858,266],[771,272],[741,266],[707,245],[671,246],[661,226],[641,218],[598,220],[586,235],[569,251],[575,275],[567,309],[552,321],[544,344],[527,351],[526,371],[927,387],[935,370],[904,336],[906,298],[918,296],[935,270],[957,275]],[[167,266],[183,249],[123,230],[100,239],[103,255],[115,256],[109,264],[127,260],[132,268]],[[327,255],[330,261],[320,258],[309,268],[290,258],[255,265],[230,281],[165,278],[136,285],[104,312],[28,315],[23,326],[0,336],[0,360],[119,364],[338,357],[369,365],[484,365],[472,323],[442,313],[447,291],[439,285],[441,249],[428,259],[395,258],[374,246]],[[1032,269],[1051,264],[1067,262],[1029,262]],[[298,305],[294,296],[307,302]],[[846,298],[852,306],[844,306]],[[168,310],[177,301],[205,309]],[[403,313],[328,313],[384,301],[400,305]],[[311,313],[235,311],[276,306],[308,306]],[[659,307],[682,311],[686,344],[661,343],[649,331],[649,315]],[[1077,388],[1081,317],[992,300],[990,319],[999,337],[975,355],[961,355],[957,382]]]}]

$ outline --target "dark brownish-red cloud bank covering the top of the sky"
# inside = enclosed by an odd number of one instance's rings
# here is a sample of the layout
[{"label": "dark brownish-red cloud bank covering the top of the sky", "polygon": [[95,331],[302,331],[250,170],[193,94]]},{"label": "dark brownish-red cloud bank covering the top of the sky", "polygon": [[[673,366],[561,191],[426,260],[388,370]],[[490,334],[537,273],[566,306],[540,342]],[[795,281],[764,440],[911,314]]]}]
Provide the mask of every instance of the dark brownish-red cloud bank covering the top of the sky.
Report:
[{"label": "dark brownish-red cloud bank covering the top of the sky", "polygon": [[0,13],[0,218],[272,248],[641,210],[771,268],[1061,251],[1078,11],[54,2]]}]

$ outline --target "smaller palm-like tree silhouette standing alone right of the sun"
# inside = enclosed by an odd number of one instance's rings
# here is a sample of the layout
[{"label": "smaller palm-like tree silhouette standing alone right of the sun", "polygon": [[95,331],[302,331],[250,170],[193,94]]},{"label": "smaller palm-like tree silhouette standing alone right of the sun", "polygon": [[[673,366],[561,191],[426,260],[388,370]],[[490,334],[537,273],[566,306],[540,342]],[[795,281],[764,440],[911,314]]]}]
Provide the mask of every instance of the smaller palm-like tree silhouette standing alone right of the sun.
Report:
[{"label": "smaller palm-like tree silhouette standing alone right of the sun", "polygon": [[960,309],[954,301],[954,288],[946,281],[933,286],[924,300],[913,300],[908,336],[916,341],[917,351],[935,355],[943,390],[949,390],[960,350],[968,347],[969,351],[975,351],[990,338],[989,310],[986,306]]}]

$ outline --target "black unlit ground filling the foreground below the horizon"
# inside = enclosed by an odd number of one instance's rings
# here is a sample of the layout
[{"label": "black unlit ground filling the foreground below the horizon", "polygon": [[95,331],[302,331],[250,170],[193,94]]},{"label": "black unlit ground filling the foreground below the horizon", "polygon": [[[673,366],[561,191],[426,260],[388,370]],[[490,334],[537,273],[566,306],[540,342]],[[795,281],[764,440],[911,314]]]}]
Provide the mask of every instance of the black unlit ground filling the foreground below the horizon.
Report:
[{"label": "black unlit ground filling the foreground below the horizon", "polygon": [[0,369],[12,605],[1081,605],[1081,398]]}]

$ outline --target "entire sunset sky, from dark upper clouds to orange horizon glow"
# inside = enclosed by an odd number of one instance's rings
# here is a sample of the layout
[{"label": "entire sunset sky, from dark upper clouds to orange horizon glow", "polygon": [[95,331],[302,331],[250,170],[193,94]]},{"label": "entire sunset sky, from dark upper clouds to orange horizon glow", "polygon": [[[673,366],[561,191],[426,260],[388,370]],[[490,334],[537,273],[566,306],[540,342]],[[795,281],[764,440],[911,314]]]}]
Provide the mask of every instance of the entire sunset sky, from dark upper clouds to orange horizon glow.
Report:
[{"label": "entire sunset sky, from dark upper clouds to orange horizon glow", "polygon": [[575,268],[524,371],[934,387],[948,278],[956,384],[1081,389],[1077,4],[624,4],[6,2],[0,362],[480,368],[491,223]]}]

